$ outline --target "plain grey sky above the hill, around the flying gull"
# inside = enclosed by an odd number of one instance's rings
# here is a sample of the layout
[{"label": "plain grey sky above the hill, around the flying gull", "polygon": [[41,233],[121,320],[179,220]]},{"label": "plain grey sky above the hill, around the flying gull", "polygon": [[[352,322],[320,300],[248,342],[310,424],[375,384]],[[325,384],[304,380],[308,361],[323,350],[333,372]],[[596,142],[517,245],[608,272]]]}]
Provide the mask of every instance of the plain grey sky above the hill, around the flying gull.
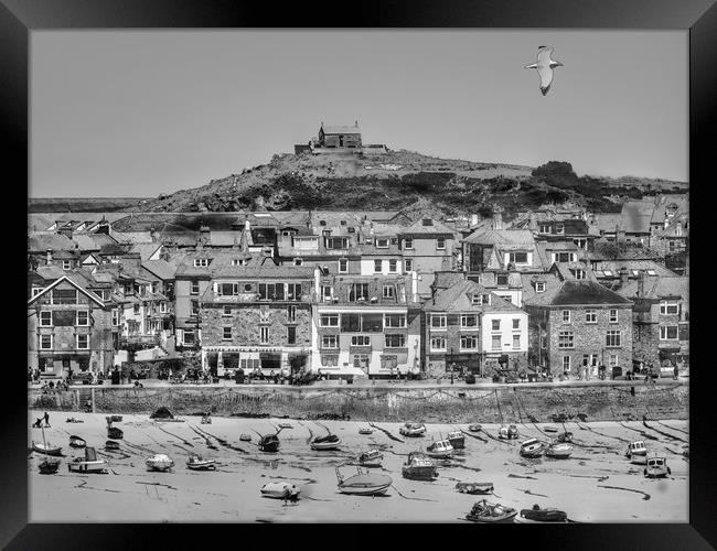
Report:
[{"label": "plain grey sky above the hill, around the flying gull", "polygon": [[[547,96],[537,48],[555,48]],[[31,197],[199,187],[358,121],[364,143],[688,180],[676,31],[32,31]]]}]

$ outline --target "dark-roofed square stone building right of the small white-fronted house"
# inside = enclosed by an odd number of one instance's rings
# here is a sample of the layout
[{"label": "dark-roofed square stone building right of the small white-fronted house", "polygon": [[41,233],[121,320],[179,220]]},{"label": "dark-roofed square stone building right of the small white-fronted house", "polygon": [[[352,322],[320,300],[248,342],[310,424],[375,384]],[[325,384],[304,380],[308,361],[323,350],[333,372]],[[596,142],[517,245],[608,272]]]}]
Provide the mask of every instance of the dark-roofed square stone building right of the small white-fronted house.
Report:
[{"label": "dark-roofed square stone building right of the small white-fronted house", "polygon": [[[632,367],[632,302],[599,284],[582,263],[554,264],[524,296],[529,358],[552,372]],[[539,284],[539,287],[538,287]]]}]

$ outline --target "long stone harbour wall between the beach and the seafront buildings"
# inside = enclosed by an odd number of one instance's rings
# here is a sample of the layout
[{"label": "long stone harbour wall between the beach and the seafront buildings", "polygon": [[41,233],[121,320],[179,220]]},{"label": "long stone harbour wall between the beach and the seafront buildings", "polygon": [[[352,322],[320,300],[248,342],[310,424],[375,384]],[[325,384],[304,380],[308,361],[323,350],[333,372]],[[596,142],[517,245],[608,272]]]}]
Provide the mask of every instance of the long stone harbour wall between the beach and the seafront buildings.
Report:
[{"label": "long stone harbour wall between the beach and the seafront buildings", "polygon": [[428,423],[503,423],[688,419],[689,387],[674,381],[600,385],[409,387],[93,387],[43,395],[29,390],[29,407],[49,411],[350,419]]}]

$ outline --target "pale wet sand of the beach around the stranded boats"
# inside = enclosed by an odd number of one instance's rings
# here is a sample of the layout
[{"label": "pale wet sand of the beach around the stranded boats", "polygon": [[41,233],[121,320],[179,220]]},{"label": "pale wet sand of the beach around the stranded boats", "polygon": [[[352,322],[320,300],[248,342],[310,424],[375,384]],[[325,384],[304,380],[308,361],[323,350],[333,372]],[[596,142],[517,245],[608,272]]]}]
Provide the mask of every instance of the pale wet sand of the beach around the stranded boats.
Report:
[{"label": "pale wet sand of the beach around the stranded boats", "polygon": [[[30,421],[42,412],[31,411]],[[83,423],[67,423],[74,417]],[[200,418],[184,415],[178,422],[156,422],[149,415],[124,414],[125,439],[120,451],[106,451],[105,414],[51,412],[50,443],[62,445],[66,457],[57,474],[41,475],[41,455],[29,454],[28,476],[31,522],[415,522],[462,521],[471,506],[486,497],[515,509],[557,507],[579,522],[687,522],[688,462],[687,421],[566,423],[574,433],[569,460],[523,458],[520,441],[550,437],[546,424],[518,424],[517,441],[502,441],[497,425],[483,424],[479,433],[467,424],[427,424],[425,437],[406,439],[398,423],[375,423],[370,435],[358,434],[365,422],[293,421],[287,419]],[[259,452],[258,433],[274,433],[279,423],[290,423],[279,434],[278,453]],[[30,424],[30,423],[29,423]],[[550,424],[561,429],[561,426]],[[342,437],[341,451],[314,452],[309,441],[325,435],[327,429]],[[400,466],[408,452],[424,449],[434,437],[450,430],[465,432],[465,450],[450,463],[438,462],[434,482],[408,480]],[[42,442],[40,429],[30,429],[29,440]],[[239,434],[252,442],[239,441]],[[107,461],[108,474],[77,474],[67,471],[83,450],[69,447],[76,434]],[[643,467],[624,457],[627,445],[644,440],[650,452],[667,458],[672,475],[648,479]],[[372,447],[384,453],[383,467],[393,486],[384,497],[346,496],[336,490],[334,467],[355,460]],[[145,460],[167,453],[175,463],[172,472],[151,473]],[[214,472],[189,471],[185,462],[199,453],[215,458]],[[356,467],[341,467],[344,476]],[[300,500],[285,505],[265,498],[259,488],[269,480],[285,479],[301,487]],[[456,490],[458,482],[492,482],[493,496],[471,496]],[[516,521],[520,521],[516,517]]]}]

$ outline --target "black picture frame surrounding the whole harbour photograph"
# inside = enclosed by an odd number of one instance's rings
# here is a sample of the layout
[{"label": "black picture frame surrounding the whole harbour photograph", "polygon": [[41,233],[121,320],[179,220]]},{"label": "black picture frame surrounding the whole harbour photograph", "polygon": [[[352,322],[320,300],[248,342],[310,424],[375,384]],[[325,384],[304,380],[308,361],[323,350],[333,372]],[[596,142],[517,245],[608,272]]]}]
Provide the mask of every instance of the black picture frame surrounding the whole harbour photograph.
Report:
[{"label": "black picture frame surrounding the whole harbour photograph", "polygon": [[[239,2],[232,0],[2,0],[0,2],[0,106],[6,127],[4,149],[6,169],[14,168],[14,180],[6,182],[8,187],[21,188],[28,182],[28,116],[29,116],[29,36],[40,29],[132,29],[132,28],[493,28],[493,29],[684,29],[689,30],[689,143],[691,143],[691,187],[700,195],[709,197],[714,169],[710,166],[714,153],[709,151],[710,139],[715,133],[710,122],[714,120],[715,98],[717,98],[717,7],[714,0],[481,0],[481,1],[390,1],[382,4],[331,4],[293,3],[279,7],[268,2]],[[655,52],[655,55],[660,55]],[[670,78],[670,67],[665,67],[665,78]],[[709,148],[709,149],[708,149]],[[7,172],[7,171],[6,171]],[[705,207],[694,206],[695,210]],[[707,205],[708,206],[708,205]],[[693,250],[708,238],[708,219],[693,213],[691,216]],[[22,220],[20,222],[20,224]],[[702,230],[700,230],[702,228]],[[11,241],[11,240],[9,240]],[[18,248],[22,240],[17,238]],[[9,242],[10,245],[10,242]],[[707,245],[708,247],[708,245]],[[18,251],[18,258],[25,251]],[[699,256],[695,256],[691,278],[697,281],[702,274]],[[24,260],[19,261],[24,269]],[[14,263],[14,262],[13,262]],[[704,267],[704,266],[703,266]],[[707,273],[707,276],[709,276]],[[14,280],[18,281],[18,280]],[[711,285],[696,289],[710,290]],[[12,292],[10,294],[13,294]],[[24,293],[17,292],[18,301]],[[695,294],[695,296],[698,296]],[[710,293],[700,299],[711,299]],[[700,312],[706,309],[700,301],[692,307],[692,353],[696,358],[708,358],[704,342],[698,335]],[[11,302],[8,309],[12,309]],[[20,307],[20,304],[17,305]],[[706,322],[705,322],[706,323]],[[22,324],[15,324],[18,339],[24,335]],[[26,398],[23,398],[24,357],[20,345],[8,344],[19,349],[19,359],[3,365],[6,378],[14,400],[2,401],[4,415],[3,449],[7,462],[0,469],[2,478],[3,512],[0,515],[0,545],[8,549],[44,548],[145,548],[150,547],[149,538],[168,536],[168,527],[152,526],[138,529],[122,525],[28,525],[28,462],[24,455],[26,442]],[[694,363],[693,364],[697,364]],[[13,366],[15,366],[13,368]],[[702,369],[704,367],[704,369]],[[13,370],[14,369],[14,370]],[[710,386],[714,366],[705,361],[692,371],[691,379],[691,457],[689,457],[689,523],[688,525],[581,525],[563,527],[534,527],[526,532],[516,528],[503,531],[505,541],[517,542],[516,536],[553,549],[710,549],[717,545],[717,491],[715,491],[715,428],[710,421]],[[17,400],[17,401],[15,401]],[[18,403],[20,402],[20,403]],[[263,533],[269,532],[264,528]],[[276,529],[276,527],[271,527]],[[414,531],[399,527],[402,532]],[[472,527],[417,528],[415,534],[421,544],[428,544],[431,536],[445,540],[468,538],[470,544],[479,544],[484,538]],[[368,528],[367,528],[368,529]],[[204,527],[172,526],[171,533],[188,547],[192,534],[199,536],[205,547],[220,544],[217,530],[224,536],[232,534],[228,544],[239,544],[243,530],[223,526],[211,529]],[[462,532],[462,530],[467,530]],[[292,528],[292,537],[311,538],[320,530],[312,526]],[[354,531],[354,530],[352,530]],[[151,533],[148,533],[151,532]],[[271,533],[279,533],[272,530]],[[261,537],[261,536],[259,536]],[[281,544],[281,538],[277,536]],[[353,539],[353,538],[347,538]],[[207,541],[208,540],[208,541]],[[164,540],[165,541],[165,540]],[[248,540],[247,540],[248,542]],[[557,544],[556,544],[557,542]],[[271,544],[271,543],[270,543]],[[404,543],[405,544],[405,543]],[[501,543],[499,543],[501,544]],[[711,544],[711,545],[710,545]]]}]

